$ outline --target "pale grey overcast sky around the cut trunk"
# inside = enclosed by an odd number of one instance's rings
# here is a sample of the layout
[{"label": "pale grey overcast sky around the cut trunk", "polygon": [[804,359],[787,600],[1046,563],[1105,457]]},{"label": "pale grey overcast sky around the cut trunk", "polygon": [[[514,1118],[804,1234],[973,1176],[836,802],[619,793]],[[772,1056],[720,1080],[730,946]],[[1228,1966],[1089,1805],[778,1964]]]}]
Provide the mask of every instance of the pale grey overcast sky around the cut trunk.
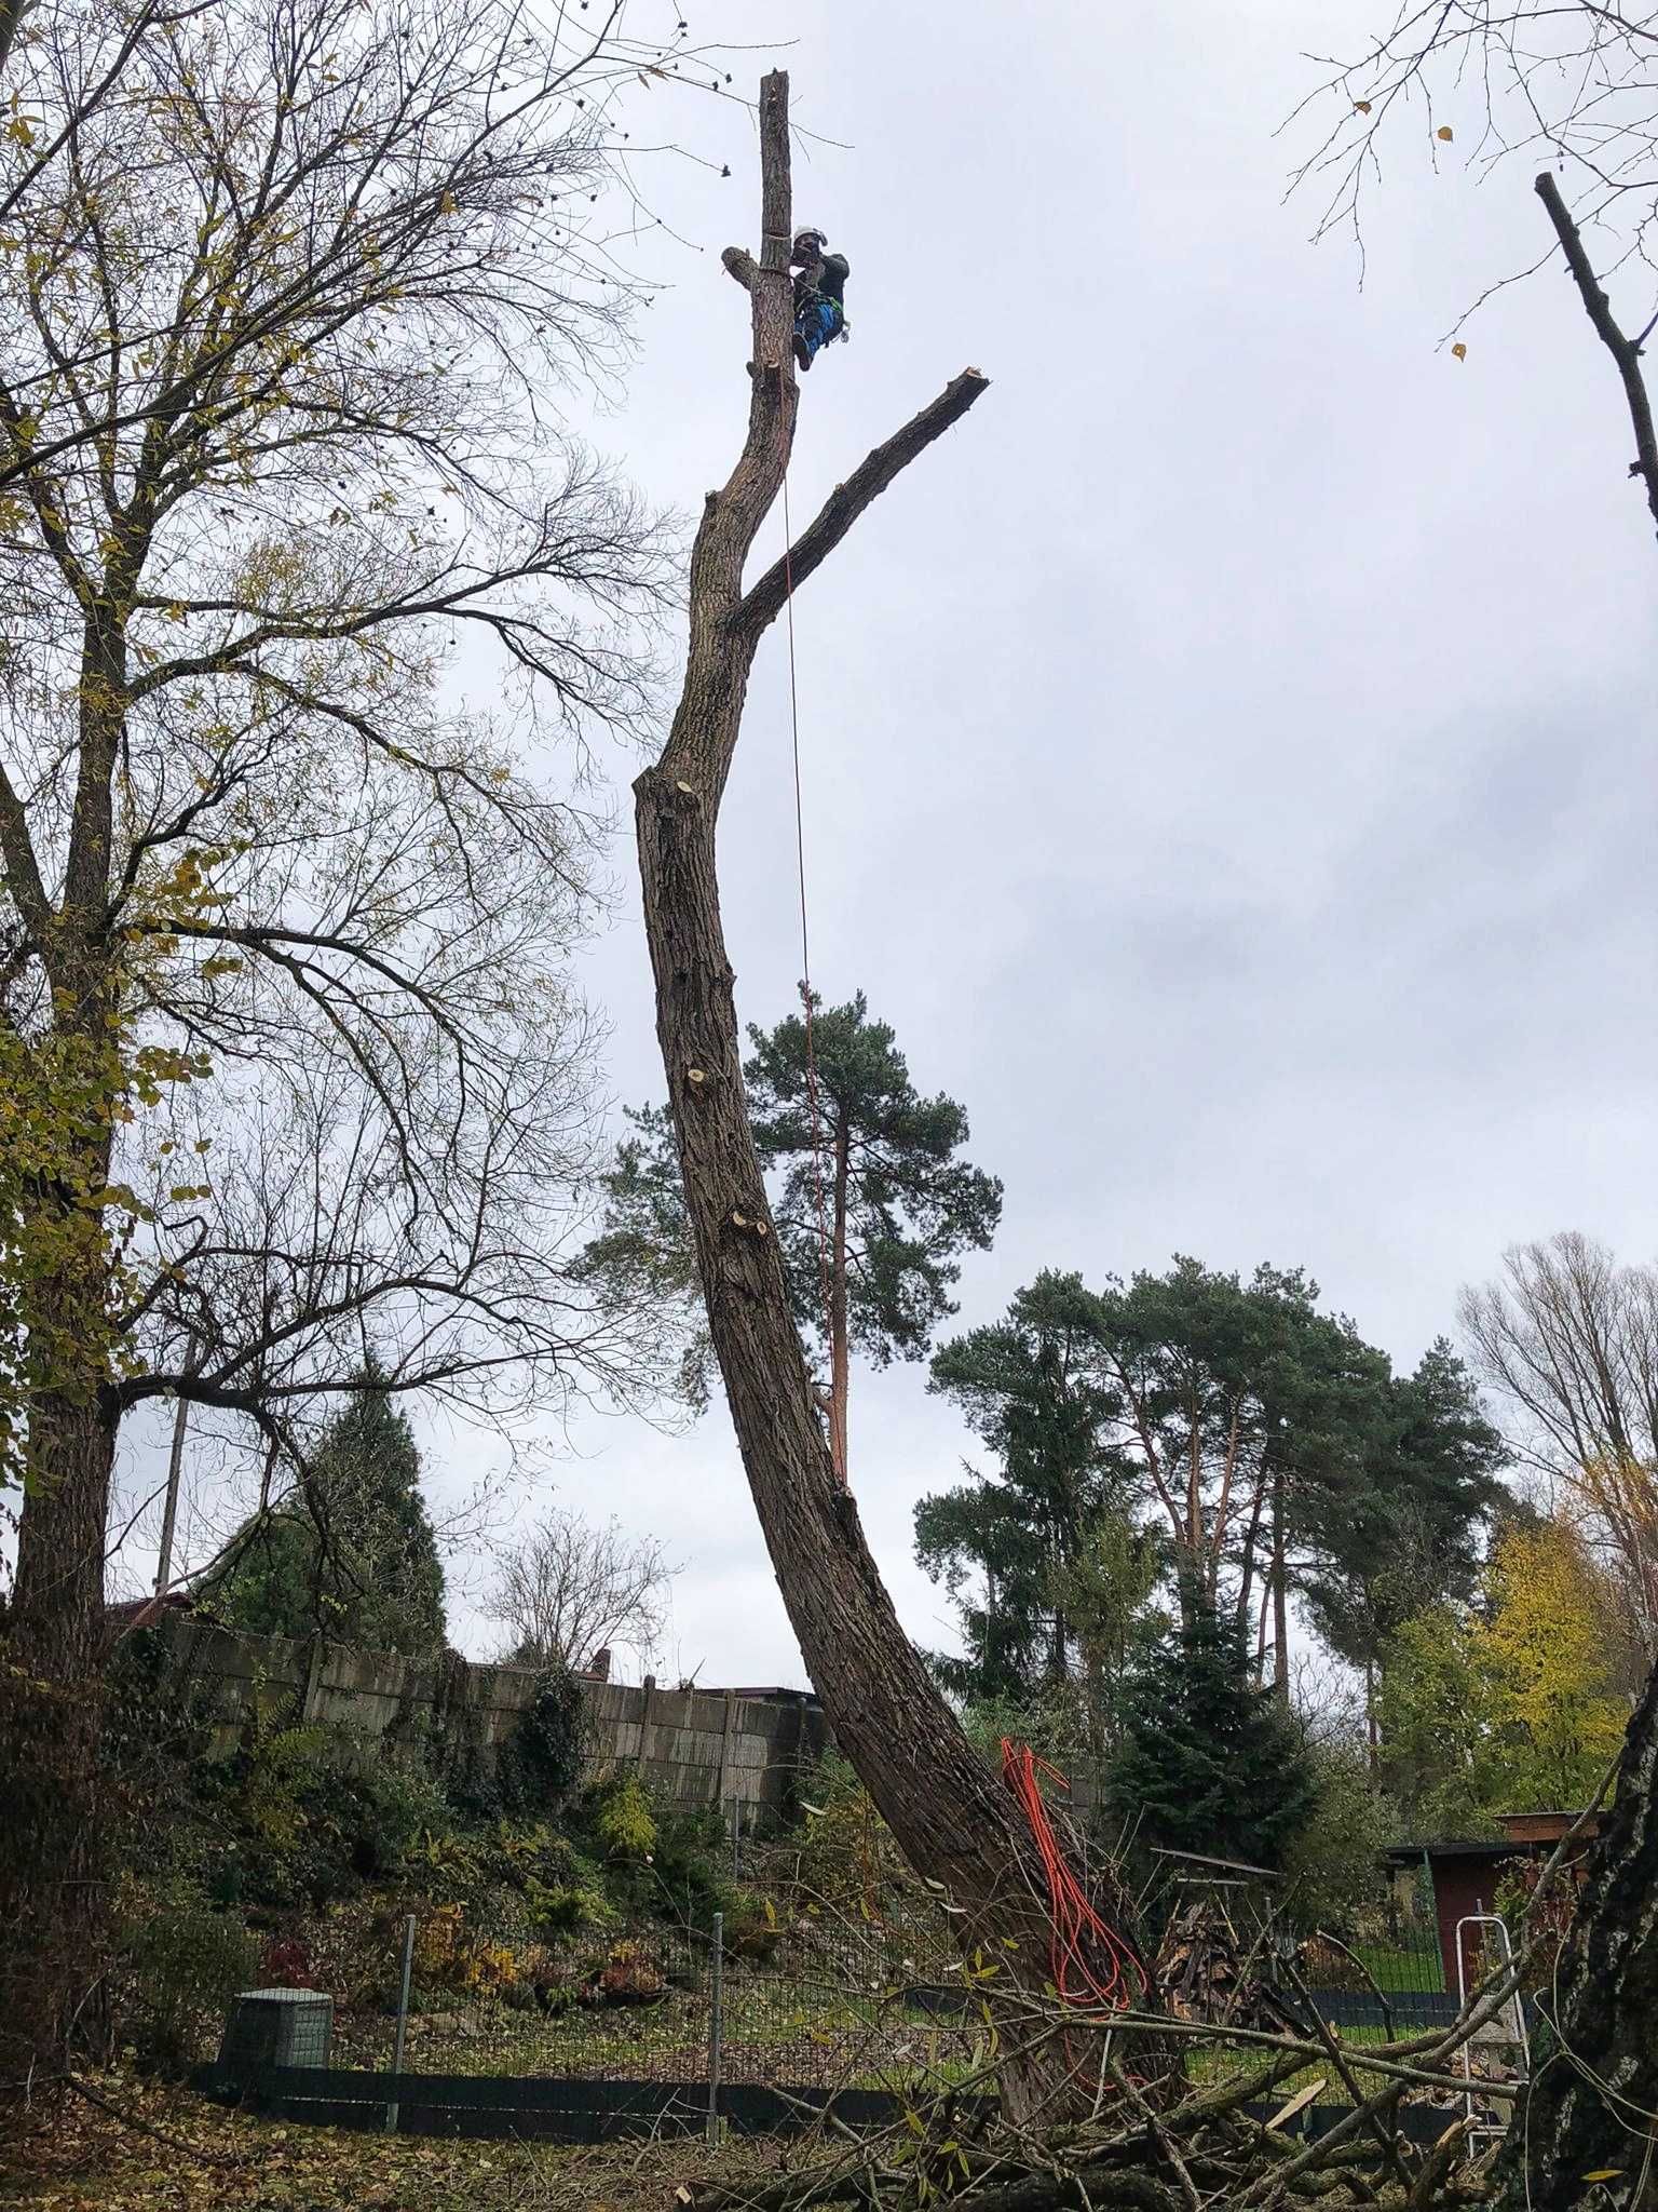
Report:
[{"label": "pale grey overcast sky around the cut trunk", "polygon": [[[798,602],[816,984],[869,993],[1006,1183],[962,1321],[1039,1267],[1192,1252],[1307,1265],[1410,1365],[1514,1239],[1649,1256],[1651,524],[1561,276],[1503,294],[1466,363],[1437,349],[1545,243],[1530,170],[1477,184],[1459,144],[1435,175],[1402,137],[1360,290],[1351,250],[1309,243],[1315,204],[1284,204],[1309,139],[1273,131],[1302,49],[1360,46],[1364,7],[690,20],[789,38],[796,122],[842,142],[796,153],[853,323],[805,385],[796,520],[951,374],[993,378]],[[646,168],[696,250],[634,257],[663,290],[592,434],[694,509],[747,405],[718,248],[756,243],[754,133],[637,104],[734,175]],[[721,834],[738,1011],[767,1024],[800,969],[780,681],[778,630]],[[639,1102],[661,1066],[630,869],[619,843],[586,984]],[[455,1486],[482,1458],[431,1449]],[[922,1367],[853,1376],[853,1489],[922,1641],[948,1626],[913,1506],[970,1449]],[[802,1679],[723,1407],[674,1438],[595,1418],[550,1478],[681,1562],[665,1672]],[[455,1630],[486,1639],[464,1597]]]}]

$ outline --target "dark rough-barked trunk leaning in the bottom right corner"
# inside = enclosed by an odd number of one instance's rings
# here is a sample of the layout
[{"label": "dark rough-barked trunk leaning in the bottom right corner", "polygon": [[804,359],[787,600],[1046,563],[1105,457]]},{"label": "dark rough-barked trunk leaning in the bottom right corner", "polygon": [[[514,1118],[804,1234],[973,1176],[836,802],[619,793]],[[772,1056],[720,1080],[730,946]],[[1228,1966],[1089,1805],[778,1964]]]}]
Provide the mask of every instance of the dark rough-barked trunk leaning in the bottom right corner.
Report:
[{"label": "dark rough-barked trunk leaning in the bottom right corner", "polygon": [[[1658,1670],[1629,1721],[1616,1796],[1499,2152],[1492,2212],[1647,2208],[1658,2110]],[[1596,2179],[1601,2177],[1601,2179]]]}]

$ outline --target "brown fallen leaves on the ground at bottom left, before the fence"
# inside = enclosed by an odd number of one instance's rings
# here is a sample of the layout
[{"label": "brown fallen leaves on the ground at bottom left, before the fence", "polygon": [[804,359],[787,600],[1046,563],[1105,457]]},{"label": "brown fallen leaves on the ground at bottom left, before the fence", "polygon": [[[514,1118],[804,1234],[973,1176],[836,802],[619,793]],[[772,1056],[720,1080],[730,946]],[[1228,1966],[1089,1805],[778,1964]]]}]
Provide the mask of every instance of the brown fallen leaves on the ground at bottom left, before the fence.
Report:
[{"label": "brown fallen leaves on the ground at bottom left, before the fence", "polygon": [[[438,2141],[225,2112],[124,2075],[86,2084],[124,2119],[64,2095],[0,2117],[0,2205],[29,2212],[668,2212],[718,2174],[760,2177],[776,2143],[696,2139]],[[144,2132],[146,2128],[155,2130]],[[161,2141],[159,2137],[166,2137]]]}]

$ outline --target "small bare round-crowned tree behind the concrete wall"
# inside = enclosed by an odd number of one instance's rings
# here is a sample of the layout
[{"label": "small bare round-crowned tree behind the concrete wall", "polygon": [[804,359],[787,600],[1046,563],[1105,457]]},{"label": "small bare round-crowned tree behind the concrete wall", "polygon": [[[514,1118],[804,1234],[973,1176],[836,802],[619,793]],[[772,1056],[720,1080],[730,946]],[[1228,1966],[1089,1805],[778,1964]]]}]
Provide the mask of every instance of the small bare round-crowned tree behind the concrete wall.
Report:
[{"label": "small bare round-crowned tree behind the concrete wall", "polygon": [[508,1659],[588,1668],[601,1652],[626,1650],[648,1666],[672,1577],[654,1537],[553,1511],[502,1548],[484,1613],[506,1630]]}]

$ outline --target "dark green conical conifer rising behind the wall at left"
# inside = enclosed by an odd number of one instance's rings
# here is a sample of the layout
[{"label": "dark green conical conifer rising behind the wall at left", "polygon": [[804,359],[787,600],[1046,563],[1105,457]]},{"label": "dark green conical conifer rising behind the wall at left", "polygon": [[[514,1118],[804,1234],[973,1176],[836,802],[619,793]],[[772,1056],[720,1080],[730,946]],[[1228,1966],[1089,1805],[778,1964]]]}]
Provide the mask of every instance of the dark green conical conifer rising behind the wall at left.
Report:
[{"label": "dark green conical conifer rising behind the wall at left", "polygon": [[230,1628],[252,1635],[323,1635],[427,1657],[444,1641],[444,1577],[420,1498],[420,1449],[374,1365],[363,1380],[325,1431],[305,1484],[248,1524],[203,1597]]}]

